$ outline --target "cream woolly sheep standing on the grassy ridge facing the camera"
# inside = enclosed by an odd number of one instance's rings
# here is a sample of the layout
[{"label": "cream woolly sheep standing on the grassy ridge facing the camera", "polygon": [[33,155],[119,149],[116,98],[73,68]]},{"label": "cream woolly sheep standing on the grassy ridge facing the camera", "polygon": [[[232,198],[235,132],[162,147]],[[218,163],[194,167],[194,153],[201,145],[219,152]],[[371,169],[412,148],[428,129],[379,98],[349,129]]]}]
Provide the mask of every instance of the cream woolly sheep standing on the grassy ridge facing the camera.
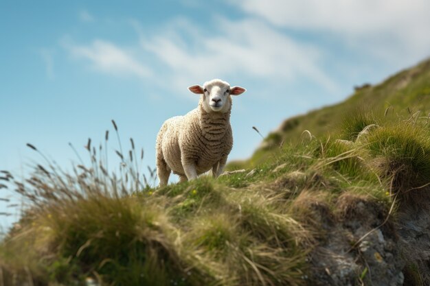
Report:
[{"label": "cream woolly sheep standing on the grassy ridge facing the camera", "polygon": [[188,89],[201,95],[199,106],[184,116],[172,117],[157,135],[156,157],[159,186],[168,183],[170,173],[179,182],[193,180],[212,168],[212,176],[223,173],[233,147],[230,126],[231,95],[246,89],[223,80],[211,80]]}]

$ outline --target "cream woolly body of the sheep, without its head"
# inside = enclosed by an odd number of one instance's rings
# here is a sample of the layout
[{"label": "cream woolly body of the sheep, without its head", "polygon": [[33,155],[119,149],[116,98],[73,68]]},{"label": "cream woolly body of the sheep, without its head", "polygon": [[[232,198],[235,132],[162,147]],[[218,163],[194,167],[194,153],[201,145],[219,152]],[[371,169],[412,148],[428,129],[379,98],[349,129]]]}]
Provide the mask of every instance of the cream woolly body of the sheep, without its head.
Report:
[{"label": "cream woolly body of the sheep, without its head", "polygon": [[227,112],[207,112],[202,105],[187,115],[168,119],[157,136],[157,168],[185,176],[183,163],[194,163],[197,175],[203,174],[218,163],[225,164],[233,147],[230,126],[230,108]]}]

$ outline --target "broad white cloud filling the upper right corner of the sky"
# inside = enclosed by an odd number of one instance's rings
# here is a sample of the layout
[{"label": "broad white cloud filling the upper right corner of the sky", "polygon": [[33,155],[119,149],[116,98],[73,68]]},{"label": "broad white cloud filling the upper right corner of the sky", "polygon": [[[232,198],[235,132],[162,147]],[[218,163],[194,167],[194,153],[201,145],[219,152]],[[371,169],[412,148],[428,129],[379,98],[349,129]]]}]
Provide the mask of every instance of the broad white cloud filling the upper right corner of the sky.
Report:
[{"label": "broad white cloud filling the upper right corner of the sky", "polygon": [[427,0],[227,1],[278,27],[340,36],[385,60],[430,55]]}]

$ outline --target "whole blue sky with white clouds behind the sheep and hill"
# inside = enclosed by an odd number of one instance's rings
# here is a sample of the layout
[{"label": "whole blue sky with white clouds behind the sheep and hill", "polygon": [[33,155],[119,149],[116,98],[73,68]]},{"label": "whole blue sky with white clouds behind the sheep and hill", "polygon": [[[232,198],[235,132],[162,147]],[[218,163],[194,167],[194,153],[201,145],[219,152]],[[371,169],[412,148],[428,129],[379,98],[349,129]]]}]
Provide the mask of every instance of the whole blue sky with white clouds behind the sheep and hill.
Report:
[{"label": "whole blue sky with white clouds behind the sheep and hill", "polygon": [[111,119],[155,166],[161,124],[196,106],[188,86],[213,78],[247,88],[230,154],[247,158],[261,140],[252,126],[266,135],[429,57],[429,11],[426,0],[2,0],[0,169],[40,161],[27,142],[67,167],[68,143],[83,156]]}]

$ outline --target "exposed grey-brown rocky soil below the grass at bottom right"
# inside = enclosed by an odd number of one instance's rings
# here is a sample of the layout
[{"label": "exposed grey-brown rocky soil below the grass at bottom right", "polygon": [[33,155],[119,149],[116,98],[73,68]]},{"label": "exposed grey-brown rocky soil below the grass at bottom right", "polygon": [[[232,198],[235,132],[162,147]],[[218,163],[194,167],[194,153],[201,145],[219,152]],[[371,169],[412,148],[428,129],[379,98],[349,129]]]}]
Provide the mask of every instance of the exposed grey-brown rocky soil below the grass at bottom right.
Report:
[{"label": "exposed grey-brown rocky soil below the grass at bottom right", "polygon": [[400,205],[385,222],[375,203],[341,197],[337,204],[341,212],[321,219],[327,235],[309,255],[308,285],[430,285],[429,207]]}]

